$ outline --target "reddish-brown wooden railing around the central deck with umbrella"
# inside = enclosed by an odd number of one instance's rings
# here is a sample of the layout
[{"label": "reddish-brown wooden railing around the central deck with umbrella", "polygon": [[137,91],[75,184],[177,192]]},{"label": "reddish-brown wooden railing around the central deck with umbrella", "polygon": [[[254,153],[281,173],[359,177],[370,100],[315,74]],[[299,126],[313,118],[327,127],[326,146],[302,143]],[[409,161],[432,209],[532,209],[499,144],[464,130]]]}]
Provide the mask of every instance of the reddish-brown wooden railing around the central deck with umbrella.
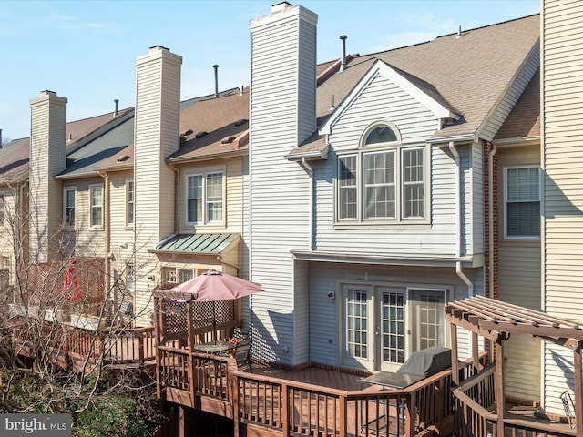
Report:
[{"label": "reddish-brown wooden railing around the central deck with umbrella", "polygon": [[[199,404],[197,398],[225,402],[235,435],[245,424],[284,437],[411,437],[454,411],[451,370],[406,390],[344,391],[238,371],[232,360],[216,355],[163,346],[158,351],[159,395],[165,391],[170,401],[191,407]],[[461,372],[472,374],[472,361],[465,361]]]}]

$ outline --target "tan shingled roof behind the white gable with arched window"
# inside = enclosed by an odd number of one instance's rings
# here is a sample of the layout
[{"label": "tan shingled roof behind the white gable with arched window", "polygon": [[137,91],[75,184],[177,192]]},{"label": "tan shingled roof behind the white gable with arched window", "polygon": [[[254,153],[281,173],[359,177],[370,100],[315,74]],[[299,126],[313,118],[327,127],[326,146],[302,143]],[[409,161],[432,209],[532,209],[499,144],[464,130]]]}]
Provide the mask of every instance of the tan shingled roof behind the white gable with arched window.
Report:
[{"label": "tan shingled roof behind the white gable with arched window", "polygon": [[[428,84],[449,107],[455,107],[460,122],[444,127],[435,138],[473,135],[479,131],[517,76],[527,56],[537,50],[540,35],[539,15],[466,30],[462,36],[450,34],[433,41],[386,52],[353,56],[342,73],[318,87],[317,117],[322,126],[331,116],[332,95],[340,105],[353,86],[381,59],[418,83]],[[417,85],[417,84],[415,84]],[[322,149],[322,137],[313,136],[288,157],[309,148]]]}]

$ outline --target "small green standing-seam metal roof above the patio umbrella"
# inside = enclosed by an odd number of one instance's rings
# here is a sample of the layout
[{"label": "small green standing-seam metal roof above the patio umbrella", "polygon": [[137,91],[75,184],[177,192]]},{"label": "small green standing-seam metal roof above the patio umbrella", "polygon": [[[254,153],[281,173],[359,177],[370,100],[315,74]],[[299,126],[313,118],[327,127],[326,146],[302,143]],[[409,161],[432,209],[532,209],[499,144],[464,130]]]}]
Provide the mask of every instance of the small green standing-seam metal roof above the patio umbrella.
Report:
[{"label": "small green standing-seam metal roof above the patio umbrella", "polygon": [[159,243],[157,252],[219,254],[240,239],[237,233],[179,234]]}]

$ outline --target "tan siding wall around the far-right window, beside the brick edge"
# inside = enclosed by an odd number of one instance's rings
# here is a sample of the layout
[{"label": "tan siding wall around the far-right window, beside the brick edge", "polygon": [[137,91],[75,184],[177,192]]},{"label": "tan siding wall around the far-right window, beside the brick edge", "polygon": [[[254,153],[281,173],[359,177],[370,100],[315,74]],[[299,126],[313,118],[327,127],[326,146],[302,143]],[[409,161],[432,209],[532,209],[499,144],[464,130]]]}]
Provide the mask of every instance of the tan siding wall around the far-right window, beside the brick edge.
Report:
[{"label": "tan siding wall around the far-right window, beside the brick edge", "polygon": [[[540,151],[534,147],[498,149],[498,297],[531,310],[541,310],[540,240],[504,238],[504,189],[506,167],[538,166]],[[512,335],[505,343],[506,395],[540,401],[541,341]]]}]

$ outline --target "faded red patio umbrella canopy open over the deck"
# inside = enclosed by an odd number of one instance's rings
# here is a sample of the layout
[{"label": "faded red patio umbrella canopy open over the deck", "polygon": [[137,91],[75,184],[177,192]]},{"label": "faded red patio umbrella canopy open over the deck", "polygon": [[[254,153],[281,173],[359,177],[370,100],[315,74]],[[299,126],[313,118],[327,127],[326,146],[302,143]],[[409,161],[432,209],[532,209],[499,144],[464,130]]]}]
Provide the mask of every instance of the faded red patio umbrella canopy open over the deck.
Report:
[{"label": "faded red patio umbrella canopy open over the deck", "polygon": [[[239,299],[250,294],[261,293],[261,285],[217,270],[209,270],[196,278],[182,282],[169,292],[193,295],[198,302]],[[187,300],[190,297],[186,297]]]}]

